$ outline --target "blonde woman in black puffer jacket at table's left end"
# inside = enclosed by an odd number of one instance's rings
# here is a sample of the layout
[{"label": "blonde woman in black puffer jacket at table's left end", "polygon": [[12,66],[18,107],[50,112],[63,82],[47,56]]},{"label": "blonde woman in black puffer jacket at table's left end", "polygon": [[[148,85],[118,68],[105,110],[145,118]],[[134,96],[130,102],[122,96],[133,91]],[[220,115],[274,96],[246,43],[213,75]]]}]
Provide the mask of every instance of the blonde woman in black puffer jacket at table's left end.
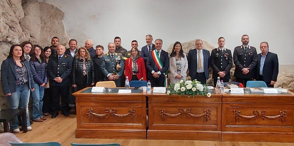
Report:
[{"label": "blonde woman in black puffer jacket at table's left end", "polygon": [[94,85],[94,65],[85,47],[78,49],[72,62],[72,87],[81,90]]}]

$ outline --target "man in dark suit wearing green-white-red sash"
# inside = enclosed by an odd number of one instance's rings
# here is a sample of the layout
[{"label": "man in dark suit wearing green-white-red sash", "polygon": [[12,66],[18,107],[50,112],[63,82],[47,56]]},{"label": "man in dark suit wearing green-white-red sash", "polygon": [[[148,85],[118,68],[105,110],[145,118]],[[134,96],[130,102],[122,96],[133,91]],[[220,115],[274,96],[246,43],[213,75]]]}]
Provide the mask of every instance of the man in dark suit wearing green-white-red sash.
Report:
[{"label": "man in dark suit wearing green-white-red sash", "polygon": [[169,67],[168,53],[162,50],[162,39],[155,40],[155,48],[147,59],[147,77],[152,87],[167,87],[167,73]]}]

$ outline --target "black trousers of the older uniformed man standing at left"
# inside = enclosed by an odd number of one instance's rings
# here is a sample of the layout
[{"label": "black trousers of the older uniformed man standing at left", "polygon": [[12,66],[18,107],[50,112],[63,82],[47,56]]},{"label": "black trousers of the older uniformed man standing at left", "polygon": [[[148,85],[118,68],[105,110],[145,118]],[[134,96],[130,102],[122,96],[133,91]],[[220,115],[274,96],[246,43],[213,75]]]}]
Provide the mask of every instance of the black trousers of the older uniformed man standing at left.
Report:
[{"label": "black trousers of the older uniformed man standing at left", "polygon": [[[57,113],[59,110],[59,107],[62,112],[68,112],[70,110],[69,99],[68,99],[68,92],[70,86],[51,86],[51,95],[52,95],[52,101],[51,101],[51,108],[52,113]],[[59,98],[61,96],[61,106],[59,106]]]}]

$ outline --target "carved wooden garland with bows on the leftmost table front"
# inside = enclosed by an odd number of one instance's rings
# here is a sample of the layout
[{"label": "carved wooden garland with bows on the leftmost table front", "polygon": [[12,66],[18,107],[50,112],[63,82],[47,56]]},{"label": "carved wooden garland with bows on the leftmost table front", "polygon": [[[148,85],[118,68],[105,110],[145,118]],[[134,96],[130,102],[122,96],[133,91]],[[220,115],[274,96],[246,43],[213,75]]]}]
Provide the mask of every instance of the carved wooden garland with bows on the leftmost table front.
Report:
[{"label": "carved wooden garland with bows on the leftmost table front", "polygon": [[116,108],[114,108],[114,109],[108,109],[108,108],[106,108],[105,110],[104,110],[104,114],[98,114],[98,113],[93,113],[93,109],[91,108],[91,109],[89,109],[89,108],[87,108],[87,115],[88,116],[92,116],[92,115],[94,115],[94,116],[97,116],[97,117],[104,117],[104,118],[108,118],[108,116],[109,115],[111,115],[113,118],[115,118],[115,117],[120,117],[120,118],[123,118],[123,117],[128,117],[128,116],[130,116],[131,118],[133,118],[133,116],[135,115],[135,108],[133,108],[133,109],[130,109],[129,110],[129,113],[126,113],[126,114],[117,114],[116,112],[117,112],[117,110],[116,110]]}]

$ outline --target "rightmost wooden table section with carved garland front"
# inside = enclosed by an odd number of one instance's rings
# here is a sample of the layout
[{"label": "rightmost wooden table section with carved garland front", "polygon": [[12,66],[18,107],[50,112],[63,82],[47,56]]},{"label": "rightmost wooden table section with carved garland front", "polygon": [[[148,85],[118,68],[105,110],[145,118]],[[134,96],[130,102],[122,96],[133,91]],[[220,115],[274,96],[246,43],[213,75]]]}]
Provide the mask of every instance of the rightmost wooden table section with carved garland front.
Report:
[{"label": "rightmost wooden table section with carved garland front", "polygon": [[222,141],[294,142],[294,95],[223,94]]}]

